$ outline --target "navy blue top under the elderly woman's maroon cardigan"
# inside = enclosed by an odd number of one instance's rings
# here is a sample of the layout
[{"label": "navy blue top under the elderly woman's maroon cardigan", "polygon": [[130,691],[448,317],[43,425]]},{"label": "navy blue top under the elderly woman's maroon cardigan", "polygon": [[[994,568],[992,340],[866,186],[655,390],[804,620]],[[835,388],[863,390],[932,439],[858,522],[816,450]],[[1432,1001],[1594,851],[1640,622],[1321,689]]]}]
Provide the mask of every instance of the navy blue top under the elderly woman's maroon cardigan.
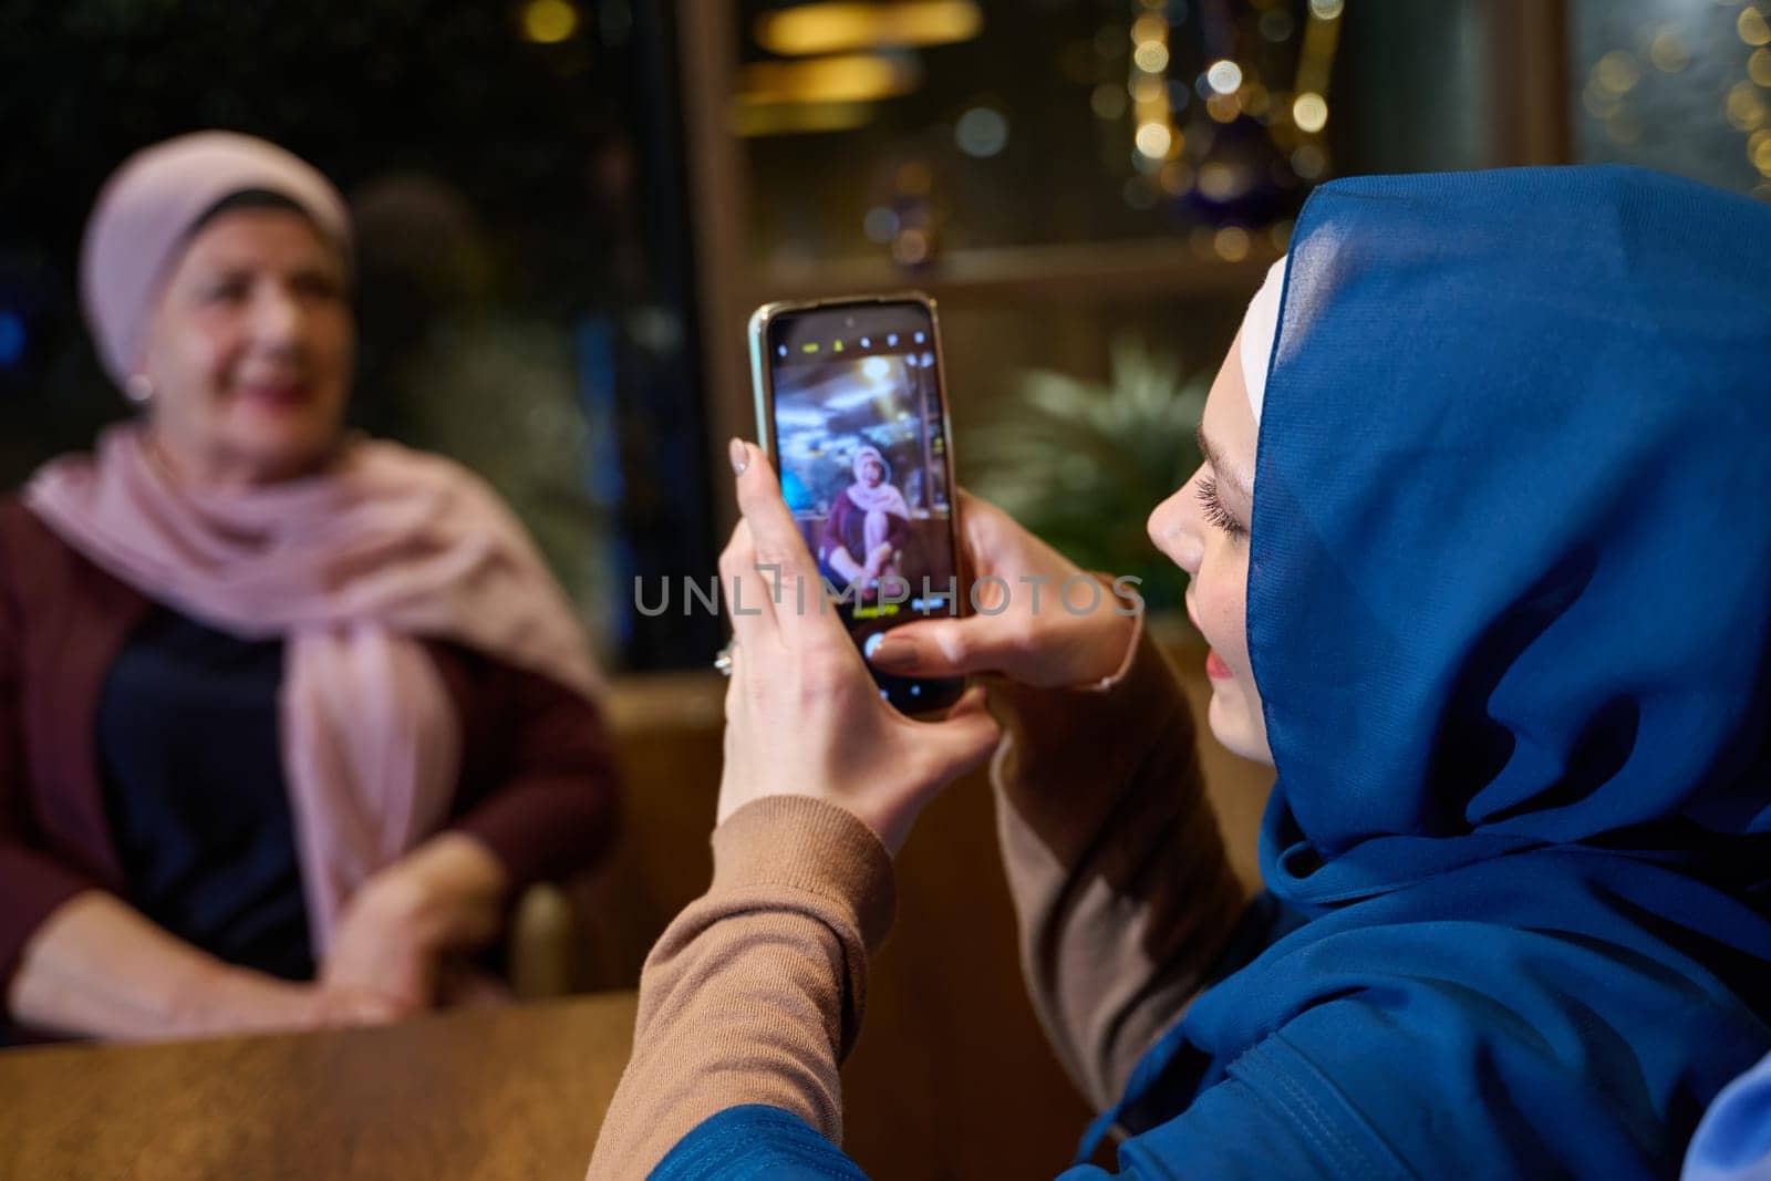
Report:
[{"label": "navy blue top under the elderly woman's maroon cardigan", "polygon": [[282,639],[236,639],[159,609],[104,682],[99,767],[129,903],[228,963],[312,979],[282,680]]}]

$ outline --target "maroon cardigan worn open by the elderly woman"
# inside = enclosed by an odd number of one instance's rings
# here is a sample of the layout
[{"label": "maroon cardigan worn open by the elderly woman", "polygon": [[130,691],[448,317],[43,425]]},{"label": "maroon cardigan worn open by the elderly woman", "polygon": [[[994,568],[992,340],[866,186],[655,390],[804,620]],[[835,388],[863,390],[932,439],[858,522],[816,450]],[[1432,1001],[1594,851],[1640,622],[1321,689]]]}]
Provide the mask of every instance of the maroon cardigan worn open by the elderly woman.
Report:
[{"label": "maroon cardigan worn open by the elderly woman", "polygon": [[[0,498],[0,1015],[32,931],[128,884],[99,786],[99,691],[154,604],[16,496]],[[609,846],[620,788],[597,708],[545,676],[425,641],[462,728],[450,827],[503,862],[512,898]],[[4,1020],[4,1016],[0,1016]]]}]

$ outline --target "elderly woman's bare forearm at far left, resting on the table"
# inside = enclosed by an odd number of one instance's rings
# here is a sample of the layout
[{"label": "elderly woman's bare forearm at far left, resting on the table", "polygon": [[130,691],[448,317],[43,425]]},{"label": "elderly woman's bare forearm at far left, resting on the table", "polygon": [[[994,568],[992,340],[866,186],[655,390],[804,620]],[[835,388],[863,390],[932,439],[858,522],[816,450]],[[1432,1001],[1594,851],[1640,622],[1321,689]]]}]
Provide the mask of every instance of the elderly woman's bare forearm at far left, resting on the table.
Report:
[{"label": "elderly woman's bare forearm at far left, resting on the table", "polygon": [[298,1007],[296,986],[230,967],[103,891],[50,914],[7,990],[18,1022],[128,1041],[276,1027]]}]

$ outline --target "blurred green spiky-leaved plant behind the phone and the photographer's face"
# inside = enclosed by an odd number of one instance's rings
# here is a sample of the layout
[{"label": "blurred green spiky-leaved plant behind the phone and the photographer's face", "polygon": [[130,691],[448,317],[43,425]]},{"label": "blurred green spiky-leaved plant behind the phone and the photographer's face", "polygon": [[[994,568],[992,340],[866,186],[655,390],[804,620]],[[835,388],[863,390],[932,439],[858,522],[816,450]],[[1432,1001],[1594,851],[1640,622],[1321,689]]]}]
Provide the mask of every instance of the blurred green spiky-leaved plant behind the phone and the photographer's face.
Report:
[{"label": "blurred green spiky-leaved plant behind the phone and the photographer's face", "polygon": [[1178,611],[1185,575],[1144,521],[1199,466],[1210,377],[1132,336],[1109,359],[1105,384],[1025,370],[1008,411],[967,439],[969,483],[1086,570],[1141,577],[1151,611]]}]

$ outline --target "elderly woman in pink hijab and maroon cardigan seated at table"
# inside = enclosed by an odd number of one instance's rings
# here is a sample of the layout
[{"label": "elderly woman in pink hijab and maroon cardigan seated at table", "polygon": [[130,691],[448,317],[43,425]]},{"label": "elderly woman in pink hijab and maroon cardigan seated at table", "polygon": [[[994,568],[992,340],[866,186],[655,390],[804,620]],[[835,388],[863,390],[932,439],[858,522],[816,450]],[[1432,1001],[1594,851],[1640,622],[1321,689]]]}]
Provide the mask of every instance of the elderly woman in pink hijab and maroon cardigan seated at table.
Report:
[{"label": "elderly woman in pink hijab and maroon cardigan seated at table", "polygon": [[0,505],[0,983],[30,1034],[485,992],[507,903],[607,841],[599,678],[521,526],[344,430],[349,282],[344,202],[271,143],[182,136],[99,195],[85,310],[140,416]]}]

